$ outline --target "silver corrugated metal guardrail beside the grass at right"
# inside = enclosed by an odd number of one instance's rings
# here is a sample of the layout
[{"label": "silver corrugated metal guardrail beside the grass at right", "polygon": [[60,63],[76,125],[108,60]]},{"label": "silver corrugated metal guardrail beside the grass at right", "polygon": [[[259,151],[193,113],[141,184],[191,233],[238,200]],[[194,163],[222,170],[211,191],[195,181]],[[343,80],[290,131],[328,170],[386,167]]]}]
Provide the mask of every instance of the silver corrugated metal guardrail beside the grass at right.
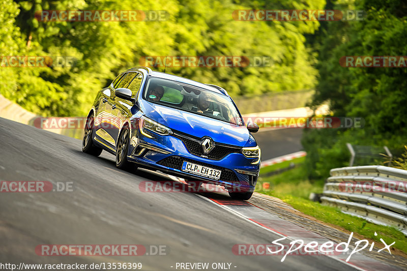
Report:
[{"label": "silver corrugated metal guardrail beside the grass at right", "polygon": [[385,166],[331,169],[321,201],[407,235],[407,170]]}]

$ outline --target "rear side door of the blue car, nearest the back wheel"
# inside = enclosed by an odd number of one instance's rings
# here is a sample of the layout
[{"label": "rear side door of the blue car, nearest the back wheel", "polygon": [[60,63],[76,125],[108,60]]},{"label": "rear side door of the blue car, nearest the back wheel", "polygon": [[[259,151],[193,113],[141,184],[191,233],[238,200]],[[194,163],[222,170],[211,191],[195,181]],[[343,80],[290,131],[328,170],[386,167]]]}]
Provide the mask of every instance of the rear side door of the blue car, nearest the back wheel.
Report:
[{"label": "rear side door of the blue car, nearest the back wheel", "polygon": [[110,136],[109,130],[111,129],[111,101],[114,96],[114,85],[118,85],[124,74],[120,74],[113,82],[106,88],[102,89],[102,95],[99,100],[97,115],[95,116],[95,133],[96,137],[105,145],[112,148],[114,147],[114,139]]}]

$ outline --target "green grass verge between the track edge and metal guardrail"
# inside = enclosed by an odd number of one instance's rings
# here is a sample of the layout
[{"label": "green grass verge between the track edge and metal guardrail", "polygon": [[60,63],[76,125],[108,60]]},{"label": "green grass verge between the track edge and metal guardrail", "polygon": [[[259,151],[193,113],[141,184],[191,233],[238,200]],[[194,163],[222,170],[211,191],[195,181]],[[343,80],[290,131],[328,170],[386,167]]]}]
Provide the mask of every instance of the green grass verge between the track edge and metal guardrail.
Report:
[{"label": "green grass verge between the track edge and metal guardrail", "polygon": [[[267,167],[260,171],[259,187],[264,187],[264,183],[269,183],[271,190],[265,191],[259,189],[259,193],[280,198],[306,215],[373,239],[376,244],[382,244],[380,238],[383,238],[386,244],[396,242],[391,247],[407,253],[407,237],[396,228],[376,225],[364,219],[343,214],[339,208],[325,206],[321,203],[308,200],[311,192],[322,193],[324,180],[310,182],[305,177],[303,166],[290,169],[278,175],[261,177],[261,173],[264,174],[269,171],[271,170]],[[377,236],[374,236],[374,232],[377,233]]]}]

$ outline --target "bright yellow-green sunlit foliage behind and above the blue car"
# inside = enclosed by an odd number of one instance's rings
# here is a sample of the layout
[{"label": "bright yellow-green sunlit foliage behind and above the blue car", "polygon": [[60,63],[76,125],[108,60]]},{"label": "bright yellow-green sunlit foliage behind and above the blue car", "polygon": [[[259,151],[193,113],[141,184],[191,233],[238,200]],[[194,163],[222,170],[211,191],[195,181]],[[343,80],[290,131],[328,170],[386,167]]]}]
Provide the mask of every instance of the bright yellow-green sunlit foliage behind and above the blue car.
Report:
[{"label": "bright yellow-green sunlit foliage behind and above the blue car", "polygon": [[[141,56],[270,56],[271,67],[171,68],[219,84],[232,96],[309,89],[315,55],[305,45],[318,22],[236,21],[237,9],[321,9],[324,1],[0,0],[0,55],[73,56],[74,67],[0,68],[0,93],[41,115],[85,115],[95,92]],[[165,10],[164,21],[39,21],[41,10]],[[162,71],[161,68],[159,70]]]}]

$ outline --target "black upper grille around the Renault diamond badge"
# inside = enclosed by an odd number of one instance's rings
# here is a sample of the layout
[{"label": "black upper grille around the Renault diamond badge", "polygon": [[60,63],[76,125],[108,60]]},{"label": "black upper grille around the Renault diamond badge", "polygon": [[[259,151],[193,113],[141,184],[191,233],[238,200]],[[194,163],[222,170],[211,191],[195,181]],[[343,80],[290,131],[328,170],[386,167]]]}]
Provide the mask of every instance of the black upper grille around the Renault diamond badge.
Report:
[{"label": "black upper grille around the Renault diamond badge", "polygon": [[214,142],[214,148],[208,154],[204,154],[202,152],[201,138],[193,137],[180,132],[177,132],[174,135],[184,142],[190,154],[211,160],[221,160],[226,155],[231,153],[240,153],[241,150],[241,148],[236,146]]}]

